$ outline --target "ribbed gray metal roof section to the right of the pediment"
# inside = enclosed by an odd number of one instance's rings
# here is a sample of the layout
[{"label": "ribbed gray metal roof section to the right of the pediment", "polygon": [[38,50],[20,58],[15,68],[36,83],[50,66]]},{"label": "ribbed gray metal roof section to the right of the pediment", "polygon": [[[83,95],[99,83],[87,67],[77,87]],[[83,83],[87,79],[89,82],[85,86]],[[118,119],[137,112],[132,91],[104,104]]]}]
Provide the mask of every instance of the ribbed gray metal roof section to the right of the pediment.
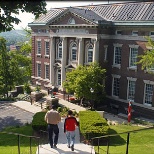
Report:
[{"label": "ribbed gray metal roof section to the right of the pediment", "polygon": [[108,21],[154,20],[154,2],[99,5],[89,9]]}]

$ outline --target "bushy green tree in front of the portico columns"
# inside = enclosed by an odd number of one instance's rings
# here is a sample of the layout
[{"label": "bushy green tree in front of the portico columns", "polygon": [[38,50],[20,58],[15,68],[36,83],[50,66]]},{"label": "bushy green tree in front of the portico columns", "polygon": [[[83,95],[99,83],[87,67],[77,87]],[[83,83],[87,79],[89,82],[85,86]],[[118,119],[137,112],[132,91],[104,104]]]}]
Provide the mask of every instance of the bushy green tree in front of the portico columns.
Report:
[{"label": "bushy green tree in front of the portico columns", "polygon": [[[91,63],[89,66],[78,66],[71,72],[66,73],[66,80],[63,87],[67,93],[75,93],[79,99],[82,97],[88,100],[100,101],[105,95],[105,69],[101,69],[98,63]],[[94,90],[91,93],[90,88]]]}]

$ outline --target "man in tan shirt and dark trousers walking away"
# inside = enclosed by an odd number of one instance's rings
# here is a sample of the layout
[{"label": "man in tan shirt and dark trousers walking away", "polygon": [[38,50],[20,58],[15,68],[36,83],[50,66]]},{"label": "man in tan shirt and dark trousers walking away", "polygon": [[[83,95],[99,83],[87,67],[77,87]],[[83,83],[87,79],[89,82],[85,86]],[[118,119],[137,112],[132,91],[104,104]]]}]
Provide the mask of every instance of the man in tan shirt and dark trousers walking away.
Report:
[{"label": "man in tan shirt and dark trousers walking away", "polygon": [[[48,134],[49,134],[49,142],[51,148],[57,148],[58,137],[59,137],[59,128],[58,123],[61,121],[60,114],[56,111],[56,106],[51,105],[49,106],[50,110],[45,114],[45,121],[47,122],[48,126]],[[53,139],[53,134],[54,139]]]}]

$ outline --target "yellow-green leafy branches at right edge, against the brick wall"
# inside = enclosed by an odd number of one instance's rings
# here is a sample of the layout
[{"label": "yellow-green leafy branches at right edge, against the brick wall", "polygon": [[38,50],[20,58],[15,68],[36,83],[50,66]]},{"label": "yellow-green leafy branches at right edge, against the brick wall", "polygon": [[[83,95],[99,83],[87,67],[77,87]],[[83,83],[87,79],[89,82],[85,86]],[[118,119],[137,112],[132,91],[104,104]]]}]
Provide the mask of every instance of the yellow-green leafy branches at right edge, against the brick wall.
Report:
[{"label": "yellow-green leafy branches at right edge, against the brick wall", "polygon": [[141,58],[137,64],[142,64],[142,70],[146,68],[149,73],[151,69],[154,68],[154,41],[150,37],[146,37],[147,44],[146,46],[149,48],[144,51],[143,55],[139,55],[138,57]]}]

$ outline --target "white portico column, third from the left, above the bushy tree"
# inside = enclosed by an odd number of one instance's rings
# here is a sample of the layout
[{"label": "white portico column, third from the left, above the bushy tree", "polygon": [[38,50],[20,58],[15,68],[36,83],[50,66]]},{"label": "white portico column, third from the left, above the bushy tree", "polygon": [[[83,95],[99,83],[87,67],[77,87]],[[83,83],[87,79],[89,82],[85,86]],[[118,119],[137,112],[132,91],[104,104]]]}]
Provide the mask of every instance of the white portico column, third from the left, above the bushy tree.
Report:
[{"label": "white portico column, third from the left, above the bushy tree", "polygon": [[78,65],[83,65],[83,43],[84,43],[84,40],[83,38],[78,38],[79,40],[79,50],[78,50]]}]

